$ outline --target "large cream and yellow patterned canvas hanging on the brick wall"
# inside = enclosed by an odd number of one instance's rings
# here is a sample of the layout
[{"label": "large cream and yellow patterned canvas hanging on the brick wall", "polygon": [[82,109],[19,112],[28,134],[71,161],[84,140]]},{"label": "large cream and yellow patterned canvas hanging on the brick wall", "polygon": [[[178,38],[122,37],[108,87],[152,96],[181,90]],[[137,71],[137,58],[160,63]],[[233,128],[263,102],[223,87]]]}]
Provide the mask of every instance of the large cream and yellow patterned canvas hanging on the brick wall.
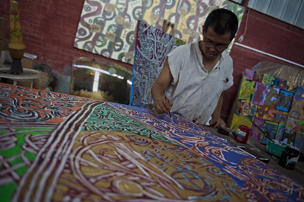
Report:
[{"label": "large cream and yellow patterned canvas hanging on the brick wall", "polygon": [[241,24],[244,7],[227,0],[85,0],[74,47],[133,64],[137,20],[161,29],[166,19],[175,24],[174,36],[190,43],[202,39],[204,20],[215,8],[232,10]]}]

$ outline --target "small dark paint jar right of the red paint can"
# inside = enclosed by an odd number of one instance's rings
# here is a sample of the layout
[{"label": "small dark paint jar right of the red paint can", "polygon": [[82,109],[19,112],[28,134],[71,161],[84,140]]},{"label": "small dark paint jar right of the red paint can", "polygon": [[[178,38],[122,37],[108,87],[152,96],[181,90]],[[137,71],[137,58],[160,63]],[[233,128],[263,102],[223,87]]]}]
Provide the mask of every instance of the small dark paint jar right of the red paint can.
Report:
[{"label": "small dark paint jar right of the red paint can", "polygon": [[296,147],[284,147],[279,160],[279,165],[293,170],[298,162],[300,151]]}]

